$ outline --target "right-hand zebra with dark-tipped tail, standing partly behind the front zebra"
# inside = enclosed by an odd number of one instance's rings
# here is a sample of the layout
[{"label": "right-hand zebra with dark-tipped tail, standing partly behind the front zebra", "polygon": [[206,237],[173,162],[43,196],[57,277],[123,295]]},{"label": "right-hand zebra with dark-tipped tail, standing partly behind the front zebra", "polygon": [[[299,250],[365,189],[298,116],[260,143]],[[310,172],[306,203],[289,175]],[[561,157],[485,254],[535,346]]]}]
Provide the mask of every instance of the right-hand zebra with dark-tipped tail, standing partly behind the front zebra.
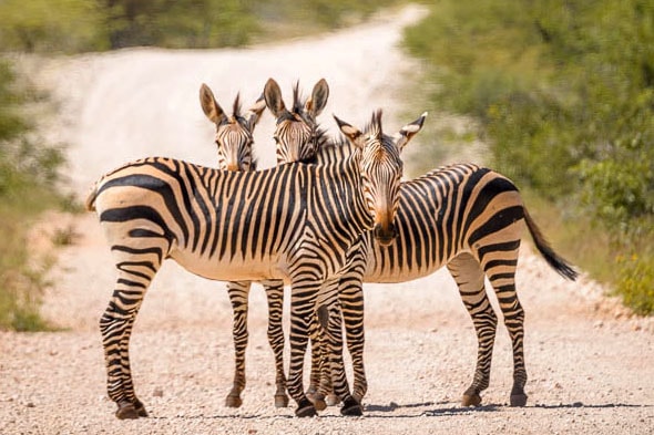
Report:
[{"label": "right-hand zebra with dark-tipped tail, standing partly behind the front zebra", "polygon": [[[268,104],[269,107],[269,104]],[[346,142],[329,142],[315,120],[294,104],[292,114],[273,111],[277,117],[276,153],[278,162],[331,164],[352,152]],[[418,126],[415,126],[418,128]],[[287,132],[315,132],[309,143]],[[321,135],[323,134],[323,135]],[[563,278],[575,280],[578,272],[548,244],[531,218],[518,187],[501,174],[473,164],[456,164],[433,169],[403,182],[396,214],[398,237],[390,247],[366,232],[361,244],[362,273],[346,273],[340,279],[340,304],[346,324],[348,350],[352,358],[354,396],[361,401],[367,382],[362,365],[362,282],[398,283],[422,278],[446,266],[454,279],[478,338],[478,358],[473,379],[463,392],[463,406],[481,404],[481,392],[489,386],[492,350],[498,318],[484,289],[487,277],[494,289],[512,342],[513,385],[511,406],[524,406],[527,370],[524,364],[524,310],[515,291],[515,270],[522,234],[527,226],[538,251]],[[355,270],[354,268],[350,270]],[[320,386],[319,355],[313,358],[309,392],[320,400],[328,392]]]}]

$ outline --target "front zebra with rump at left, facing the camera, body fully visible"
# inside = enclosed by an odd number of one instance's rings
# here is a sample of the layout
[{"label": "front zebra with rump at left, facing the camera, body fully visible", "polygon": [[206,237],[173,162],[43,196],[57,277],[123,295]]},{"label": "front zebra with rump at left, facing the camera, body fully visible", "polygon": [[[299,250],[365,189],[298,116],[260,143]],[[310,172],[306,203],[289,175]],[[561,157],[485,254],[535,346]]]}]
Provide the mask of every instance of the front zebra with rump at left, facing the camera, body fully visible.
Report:
[{"label": "front zebra with rump at left, facing the camera, body fully visible", "polygon": [[[316,166],[287,164],[260,172],[229,172],[166,157],[147,157],[103,175],[85,201],[114,256],[116,281],[100,319],[108,394],[119,418],[147,416],[130,369],[129,342],[145,292],[166,258],[192,273],[225,281],[285,279],[290,283],[288,393],[296,416],[316,415],[303,389],[308,322],[318,294],[347,270],[359,236],[374,229],[392,241],[402,176],[400,142],[384,134],[381,111],[370,128],[335,117],[356,151]],[[337,293],[320,294],[334,304]],[[340,331],[339,331],[340,332]],[[333,331],[327,331],[329,341]],[[349,391],[343,355],[328,370],[341,414],[361,415]]]}]

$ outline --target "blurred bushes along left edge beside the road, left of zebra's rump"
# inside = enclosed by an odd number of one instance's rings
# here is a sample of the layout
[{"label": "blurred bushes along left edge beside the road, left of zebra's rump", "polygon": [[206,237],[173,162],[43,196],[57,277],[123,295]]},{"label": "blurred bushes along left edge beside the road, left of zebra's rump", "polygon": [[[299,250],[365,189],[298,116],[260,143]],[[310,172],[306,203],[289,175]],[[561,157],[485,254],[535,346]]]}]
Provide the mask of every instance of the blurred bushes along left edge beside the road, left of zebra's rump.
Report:
[{"label": "blurred bushes along left edge beside the road, left of zebra's rump", "polygon": [[61,199],[62,154],[34,135],[23,106],[37,94],[0,61],[0,329],[41,330],[39,302],[47,265],[30,257],[30,224]]}]

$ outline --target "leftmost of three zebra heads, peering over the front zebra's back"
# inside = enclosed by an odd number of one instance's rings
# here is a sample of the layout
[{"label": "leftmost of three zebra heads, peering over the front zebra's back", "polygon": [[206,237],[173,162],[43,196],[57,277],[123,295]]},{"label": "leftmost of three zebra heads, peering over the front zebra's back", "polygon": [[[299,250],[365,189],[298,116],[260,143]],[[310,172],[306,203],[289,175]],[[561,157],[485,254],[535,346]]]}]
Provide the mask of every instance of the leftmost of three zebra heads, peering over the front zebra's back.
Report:
[{"label": "leftmost of three zebra heads, peering over the front zebra's back", "polygon": [[256,162],[252,154],[253,133],[266,108],[263,96],[242,114],[239,96],[236,95],[232,116],[227,116],[216,102],[212,90],[203,83],[200,87],[200,103],[206,117],[216,125],[218,169],[254,170]]}]

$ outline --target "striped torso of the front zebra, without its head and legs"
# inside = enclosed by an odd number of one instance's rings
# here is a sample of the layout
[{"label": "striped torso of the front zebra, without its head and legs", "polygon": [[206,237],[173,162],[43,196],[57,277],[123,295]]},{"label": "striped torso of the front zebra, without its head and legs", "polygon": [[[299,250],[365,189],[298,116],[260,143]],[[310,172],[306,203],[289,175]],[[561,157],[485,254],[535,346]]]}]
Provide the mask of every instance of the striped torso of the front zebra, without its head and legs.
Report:
[{"label": "striped torso of the front zebra, without its head and legs", "polygon": [[[371,228],[357,191],[359,158],[352,157],[324,167],[289,164],[249,173],[151,157],[102,177],[88,203],[95,205],[110,240],[139,245],[163,239],[157,257],[173,257],[197,275],[218,280],[285,278],[278,270],[269,272],[280,257],[308,249],[331,250],[340,259]],[[315,240],[307,242],[307,234]],[[117,245],[112,249],[120,249]],[[217,263],[228,268],[218,270]]]}]

